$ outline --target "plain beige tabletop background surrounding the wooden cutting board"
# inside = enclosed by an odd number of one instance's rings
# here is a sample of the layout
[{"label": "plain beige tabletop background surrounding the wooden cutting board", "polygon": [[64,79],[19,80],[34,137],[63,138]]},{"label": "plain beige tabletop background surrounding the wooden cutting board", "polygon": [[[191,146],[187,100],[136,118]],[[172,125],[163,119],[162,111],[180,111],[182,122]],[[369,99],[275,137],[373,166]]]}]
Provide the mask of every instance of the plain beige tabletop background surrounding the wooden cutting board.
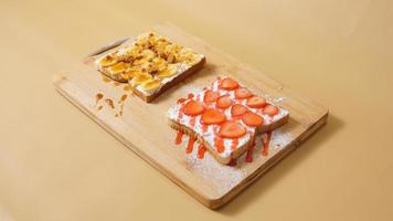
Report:
[{"label": "plain beige tabletop background surrounding the wooden cutting board", "polygon": [[[0,220],[392,220],[390,0],[0,2]],[[72,106],[52,76],[172,22],[323,103],[329,123],[211,211]]]}]

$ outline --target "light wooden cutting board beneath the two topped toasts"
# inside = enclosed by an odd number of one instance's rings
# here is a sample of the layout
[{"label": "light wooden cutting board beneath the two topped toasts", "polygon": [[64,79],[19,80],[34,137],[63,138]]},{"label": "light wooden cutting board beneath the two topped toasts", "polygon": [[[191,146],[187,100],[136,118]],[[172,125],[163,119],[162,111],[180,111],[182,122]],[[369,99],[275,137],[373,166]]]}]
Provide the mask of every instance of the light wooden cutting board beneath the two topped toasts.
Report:
[{"label": "light wooden cutting board beneath the two topped toasts", "polygon": [[[131,95],[126,84],[118,84],[97,72],[88,57],[62,72],[55,88],[109,134],[148,161],[178,186],[209,208],[216,209],[255,181],[284,156],[327,122],[328,109],[301,96],[258,70],[231,57],[171,24],[152,30],[206,55],[202,71],[163,93],[151,104]],[[127,42],[126,42],[127,43]],[[121,46],[121,45],[120,45]],[[257,138],[253,161],[243,156],[236,166],[224,166],[206,152],[198,157],[198,145],[185,154],[188,137],[174,145],[177,133],[167,125],[166,112],[191,90],[209,85],[219,75],[230,75],[258,94],[267,94],[290,113],[289,122]],[[97,102],[97,94],[103,98]],[[266,151],[267,150],[267,151]]]}]

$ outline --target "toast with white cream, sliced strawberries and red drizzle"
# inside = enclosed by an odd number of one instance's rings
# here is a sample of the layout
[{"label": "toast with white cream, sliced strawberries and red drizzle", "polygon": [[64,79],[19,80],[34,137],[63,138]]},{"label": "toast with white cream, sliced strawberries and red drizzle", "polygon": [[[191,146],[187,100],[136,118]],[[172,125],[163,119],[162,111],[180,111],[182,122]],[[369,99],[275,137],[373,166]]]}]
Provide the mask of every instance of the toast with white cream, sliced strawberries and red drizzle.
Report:
[{"label": "toast with white cream, sliced strawberries and red drizzle", "polygon": [[257,134],[285,124],[289,113],[224,76],[180,98],[167,117],[172,128],[197,139],[217,161],[227,165],[254,145]]}]

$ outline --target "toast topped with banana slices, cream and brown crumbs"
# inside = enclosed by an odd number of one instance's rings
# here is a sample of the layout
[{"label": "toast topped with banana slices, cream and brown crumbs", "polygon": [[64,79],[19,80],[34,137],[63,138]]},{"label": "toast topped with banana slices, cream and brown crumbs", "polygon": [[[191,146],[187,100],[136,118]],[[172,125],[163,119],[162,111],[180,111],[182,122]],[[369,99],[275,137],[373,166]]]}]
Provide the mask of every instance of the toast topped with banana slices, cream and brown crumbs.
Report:
[{"label": "toast topped with banana slices, cream and brown crumbs", "polygon": [[114,81],[129,83],[134,94],[148,103],[204,63],[204,55],[153,32],[95,61],[98,71]]}]

